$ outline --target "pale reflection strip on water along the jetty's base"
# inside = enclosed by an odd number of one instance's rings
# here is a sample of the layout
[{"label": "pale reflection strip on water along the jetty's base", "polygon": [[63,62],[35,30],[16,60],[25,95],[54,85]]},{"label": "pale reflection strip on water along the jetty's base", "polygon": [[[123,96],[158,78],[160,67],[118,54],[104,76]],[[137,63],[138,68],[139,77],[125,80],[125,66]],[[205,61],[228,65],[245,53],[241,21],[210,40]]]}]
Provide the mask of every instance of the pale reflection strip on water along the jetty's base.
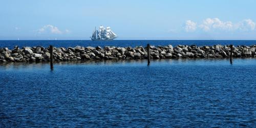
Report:
[{"label": "pale reflection strip on water along the jetty's base", "polygon": [[[229,61],[228,61],[229,60]],[[256,58],[232,58],[234,65],[251,65]],[[138,60],[85,60],[85,61],[55,61],[54,66],[71,65],[91,65],[91,66],[110,66],[110,65],[144,65],[146,59]],[[152,59],[152,66],[156,65],[228,65],[231,63],[229,58],[179,58],[179,59]],[[23,69],[23,68],[45,68],[50,67],[50,62],[4,62],[0,63],[1,69]]]}]

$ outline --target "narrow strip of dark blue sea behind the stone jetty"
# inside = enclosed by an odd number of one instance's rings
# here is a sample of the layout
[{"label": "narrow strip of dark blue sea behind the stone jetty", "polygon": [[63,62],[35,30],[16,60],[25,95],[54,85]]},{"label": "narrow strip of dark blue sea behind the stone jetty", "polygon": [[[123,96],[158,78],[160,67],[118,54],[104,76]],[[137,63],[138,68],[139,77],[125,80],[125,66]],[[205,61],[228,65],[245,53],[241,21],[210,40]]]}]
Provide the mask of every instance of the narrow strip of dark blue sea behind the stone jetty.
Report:
[{"label": "narrow strip of dark blue sea behind the stone jetty", "polygon": [[43,46],[49,47],[75,47],[75,46],[146,46],[147,44],[155,46],[166,46],[166,45],[255,45],[256,40],[112,40],[112,41],[91,41],[91,40],[0,40],[0,48],[7,47],[13,49],[14,46],[19,47],[33,47]]}]

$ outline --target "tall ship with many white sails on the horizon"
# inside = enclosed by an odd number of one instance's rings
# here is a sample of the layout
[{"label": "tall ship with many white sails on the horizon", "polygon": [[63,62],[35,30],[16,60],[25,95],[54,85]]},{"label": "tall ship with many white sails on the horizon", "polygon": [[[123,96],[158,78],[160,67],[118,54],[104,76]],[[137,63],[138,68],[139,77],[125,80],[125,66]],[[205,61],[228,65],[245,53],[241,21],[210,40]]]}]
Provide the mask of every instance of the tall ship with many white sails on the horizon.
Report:
[{"label": "tall ship with many white sails on the horizon", "polygon": [[110,27],[106,27],[104,28],[103,26],[99,27],[99,30],[95,30],[93,31],[93,35],[92,37],[90,37],[93,41],[95,40],[113,40],[115,38],[117,38],[117,35],[111,31]]}]

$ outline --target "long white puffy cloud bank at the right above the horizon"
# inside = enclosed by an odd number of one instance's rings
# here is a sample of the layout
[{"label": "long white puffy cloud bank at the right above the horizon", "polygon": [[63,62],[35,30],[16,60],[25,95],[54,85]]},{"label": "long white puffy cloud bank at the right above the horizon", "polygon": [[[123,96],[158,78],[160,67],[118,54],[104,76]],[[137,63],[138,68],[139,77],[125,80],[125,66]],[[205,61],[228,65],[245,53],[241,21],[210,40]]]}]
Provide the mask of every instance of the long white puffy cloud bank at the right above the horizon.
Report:
[{"label": "long white puffy cloud bank at the right above the horizon", "polygon": [[239,23],[222,21],[219,18],[206,18],[200,25],[191,20],[187,20],[184,26],[186,32],[194,32],[199,28],[205,32],[209,31],[253,31],[255,23],[251,19],[244,19]]}]

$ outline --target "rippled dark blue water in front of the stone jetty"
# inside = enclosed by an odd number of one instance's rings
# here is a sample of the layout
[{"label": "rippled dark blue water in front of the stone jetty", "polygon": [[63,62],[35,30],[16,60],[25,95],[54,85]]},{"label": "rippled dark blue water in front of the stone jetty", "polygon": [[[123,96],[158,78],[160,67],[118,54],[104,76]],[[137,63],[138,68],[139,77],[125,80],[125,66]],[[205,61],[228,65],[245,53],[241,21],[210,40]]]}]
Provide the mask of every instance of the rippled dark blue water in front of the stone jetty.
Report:
[{"label": "rippled dark blue water in front of the stone jetty", "polygon": [[256,59],[0,65],[0,127],[254,127]]}]

